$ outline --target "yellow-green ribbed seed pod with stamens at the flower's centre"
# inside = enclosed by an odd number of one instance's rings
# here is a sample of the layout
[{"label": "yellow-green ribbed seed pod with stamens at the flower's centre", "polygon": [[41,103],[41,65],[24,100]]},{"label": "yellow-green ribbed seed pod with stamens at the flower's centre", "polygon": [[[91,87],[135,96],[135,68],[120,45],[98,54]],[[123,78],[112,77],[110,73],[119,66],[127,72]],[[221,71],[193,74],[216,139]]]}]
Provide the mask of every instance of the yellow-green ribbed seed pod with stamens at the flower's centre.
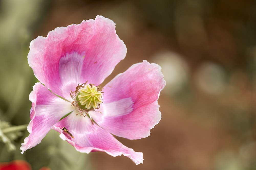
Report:
[{"label": "yellow-green ribbed seed pod with stamens at the flower's centre", "polygon": [[100,87],[86,83],[81,85],[78,84],[76,91],[71,91],[70,93],[70,96],[73,99],[71,105],[74,106],[81,115],[85,113],[85,116],[89,111],[100,108],[103,93],[101,92],[102,89]]}]

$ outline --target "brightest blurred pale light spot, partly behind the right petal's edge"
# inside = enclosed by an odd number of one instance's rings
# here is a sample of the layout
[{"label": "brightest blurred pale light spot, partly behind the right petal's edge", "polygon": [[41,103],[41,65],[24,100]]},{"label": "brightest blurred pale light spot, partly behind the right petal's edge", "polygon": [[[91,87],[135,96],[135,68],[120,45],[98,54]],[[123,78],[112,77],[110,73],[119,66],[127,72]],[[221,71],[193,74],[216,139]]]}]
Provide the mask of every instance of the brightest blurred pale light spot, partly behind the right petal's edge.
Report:
[{"label": "brightest blurred pale light spot, partly behind the right petal's edge", "polygon": [[188,82],[188,66],[186,61],[172,51],[160,52],[154,55],[153,62],[162,67],[166,81],[164,93],[174,94],[181,91]]}]

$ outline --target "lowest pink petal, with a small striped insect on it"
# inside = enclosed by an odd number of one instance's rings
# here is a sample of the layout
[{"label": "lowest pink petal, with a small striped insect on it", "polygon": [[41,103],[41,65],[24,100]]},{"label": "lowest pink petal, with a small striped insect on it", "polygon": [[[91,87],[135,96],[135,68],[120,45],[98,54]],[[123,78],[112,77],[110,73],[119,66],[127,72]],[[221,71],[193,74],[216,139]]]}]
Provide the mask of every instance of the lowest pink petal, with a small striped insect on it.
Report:
[{"label": "lowest pink petal, with a small striped insect on it", "polygon": [[[65,127],[74,136],[64,132]],[[133,149],[124,146],[109,132],[92,124],[88,116],[76,116],[76,111],[52,126],[52,129],[60,133],[63,140],[67,140],[79,152],[90,153],[103,151],[111,156],[124,155],[133,160],[136,164],[143,163],[143,153],[135,152]]]}]

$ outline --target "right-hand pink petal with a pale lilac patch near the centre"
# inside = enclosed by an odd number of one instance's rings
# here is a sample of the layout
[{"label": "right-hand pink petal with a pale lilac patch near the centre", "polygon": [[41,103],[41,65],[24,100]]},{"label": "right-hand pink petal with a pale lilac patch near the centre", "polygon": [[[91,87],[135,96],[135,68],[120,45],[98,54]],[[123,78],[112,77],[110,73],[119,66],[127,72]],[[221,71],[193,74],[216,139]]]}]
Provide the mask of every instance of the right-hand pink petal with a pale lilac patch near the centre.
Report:
[{"label": "right-hand pink petal with a pale lilac patch near the centre", "polygon": [[[157,100],[164,86],[160,66],[146,60],[134,64],[106,84],[99,109],[103,114],[95,112],[91,116],[100,127],[116,136],[145,138],[161,120]],[[113,103],[120,106],[112,107]]]}]

